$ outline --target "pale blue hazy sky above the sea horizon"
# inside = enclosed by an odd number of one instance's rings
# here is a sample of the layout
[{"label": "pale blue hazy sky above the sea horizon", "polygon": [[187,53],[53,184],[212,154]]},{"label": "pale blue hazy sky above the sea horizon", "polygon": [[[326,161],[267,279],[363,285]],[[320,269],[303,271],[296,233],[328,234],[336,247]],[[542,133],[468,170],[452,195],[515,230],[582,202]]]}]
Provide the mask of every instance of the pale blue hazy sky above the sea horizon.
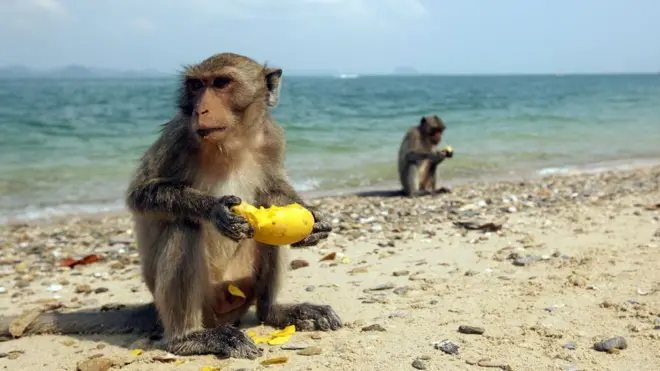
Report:
[{"label": "pale blue hazy sky above the sea horizon", "polygon": [[0,0],[0,66],[658,72],[659,19],[659,0]]}]

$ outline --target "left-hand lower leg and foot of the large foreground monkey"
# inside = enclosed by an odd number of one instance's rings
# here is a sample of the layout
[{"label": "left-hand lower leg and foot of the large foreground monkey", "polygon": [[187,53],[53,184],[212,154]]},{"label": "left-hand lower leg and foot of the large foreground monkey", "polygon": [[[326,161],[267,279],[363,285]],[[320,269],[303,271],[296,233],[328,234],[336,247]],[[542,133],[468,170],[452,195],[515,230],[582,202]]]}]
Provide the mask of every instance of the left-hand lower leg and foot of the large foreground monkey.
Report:
[{"label": "left-hand lower leg and foot of the large foreground monkey", "polygon": [[173,223],[158,242],[162,248],[156,262],[159,271],[154,302],[165,329],[166,349],[178,355],[250,359],[260,356],[261,349],[231,324],[203,327],[210,282],[200,225]]}]

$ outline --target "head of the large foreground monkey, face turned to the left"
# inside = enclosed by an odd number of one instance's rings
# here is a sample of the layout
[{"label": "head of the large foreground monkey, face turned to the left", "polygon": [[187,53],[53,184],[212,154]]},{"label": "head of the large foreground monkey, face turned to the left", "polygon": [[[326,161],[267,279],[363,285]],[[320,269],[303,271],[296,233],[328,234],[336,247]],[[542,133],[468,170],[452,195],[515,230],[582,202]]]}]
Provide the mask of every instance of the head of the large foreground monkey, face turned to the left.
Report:
[{"label": "head of the large foreground monkey, face turned to the left", "polygon": [[216,54],[183,72],[179,110],[203,141],[247,133],[278,101],[282,70],[233,53]]}]

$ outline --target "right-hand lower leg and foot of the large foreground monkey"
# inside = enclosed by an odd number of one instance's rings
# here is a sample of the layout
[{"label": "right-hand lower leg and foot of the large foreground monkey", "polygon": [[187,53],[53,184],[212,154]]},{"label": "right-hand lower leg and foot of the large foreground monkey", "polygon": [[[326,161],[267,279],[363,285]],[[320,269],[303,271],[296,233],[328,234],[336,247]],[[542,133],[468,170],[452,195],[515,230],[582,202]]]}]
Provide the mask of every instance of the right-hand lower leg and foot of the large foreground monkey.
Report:
[{"label": "right-hand lower leg and foot of the large foreground monkey", "polygon": [[283,328],[295,325],[300,331],[329,331],[343,326],[329,305],[311,303],[275,304],[278,282],[283,274],[281,247],[261,245],[261,267],[257,287],[257,318],[267,325]]}]

